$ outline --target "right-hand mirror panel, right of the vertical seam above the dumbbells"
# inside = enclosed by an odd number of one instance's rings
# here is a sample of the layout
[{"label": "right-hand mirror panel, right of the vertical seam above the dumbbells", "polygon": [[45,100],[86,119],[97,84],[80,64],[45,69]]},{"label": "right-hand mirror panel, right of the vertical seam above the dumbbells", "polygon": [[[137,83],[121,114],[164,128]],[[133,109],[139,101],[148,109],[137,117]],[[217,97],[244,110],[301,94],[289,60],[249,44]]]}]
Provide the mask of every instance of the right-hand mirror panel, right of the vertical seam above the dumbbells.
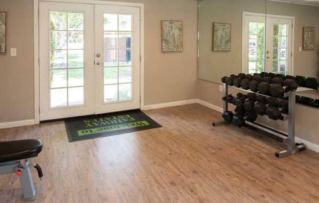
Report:
[{"label": "right-hand mirror panel, right of the vertical seam above the dumbbells", "polygon": [[319,78],[319,2],[267,0],[266,7],[266,71]]}]

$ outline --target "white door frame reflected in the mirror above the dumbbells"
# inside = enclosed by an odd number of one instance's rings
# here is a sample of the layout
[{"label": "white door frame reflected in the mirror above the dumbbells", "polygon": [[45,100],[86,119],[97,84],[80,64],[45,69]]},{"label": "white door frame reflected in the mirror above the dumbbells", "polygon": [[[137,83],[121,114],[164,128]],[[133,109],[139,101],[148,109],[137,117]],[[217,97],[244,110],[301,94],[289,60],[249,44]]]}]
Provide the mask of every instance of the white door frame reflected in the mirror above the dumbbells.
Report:
[{"label": "white door frame reflected in the mirror above the dumbbells", "polygon": [[[245,17],[246,16],[260,16],[265,18],[265,26],[266,25],[266,17],[270,18],[282,18],[282,19],[291,19],[293,21],[293,29],[292,29],[292,48],[291,48],[291,75],[294,75],[294,51],[295,51],[295,17],[294,16],[280,16],[280,15],[271,15],[271,14],[264,14],[264,13],[252,13],[252,12],[243,12],[243,19],[242,19],[242,27],[245,24]],[[245,30],[242,29],[242,43],[244,40]],[[267,43],[267,42],[266,42]],[[244,46],[242,44],[242,72],[246,71],[245,67],[245,59],[244,59]]]}]

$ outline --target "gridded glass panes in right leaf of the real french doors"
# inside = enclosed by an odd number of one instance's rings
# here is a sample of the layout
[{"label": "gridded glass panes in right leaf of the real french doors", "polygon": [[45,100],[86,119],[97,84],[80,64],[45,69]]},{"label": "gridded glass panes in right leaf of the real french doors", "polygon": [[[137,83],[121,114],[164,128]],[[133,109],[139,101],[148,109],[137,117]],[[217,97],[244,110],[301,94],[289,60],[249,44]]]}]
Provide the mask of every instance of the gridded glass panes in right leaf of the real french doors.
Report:
[{"label": "gridded glass panes in right leaf of the real french doors", "polygon": [[104,14],[105,103],[132,100],[131,19],[131,15]]}]

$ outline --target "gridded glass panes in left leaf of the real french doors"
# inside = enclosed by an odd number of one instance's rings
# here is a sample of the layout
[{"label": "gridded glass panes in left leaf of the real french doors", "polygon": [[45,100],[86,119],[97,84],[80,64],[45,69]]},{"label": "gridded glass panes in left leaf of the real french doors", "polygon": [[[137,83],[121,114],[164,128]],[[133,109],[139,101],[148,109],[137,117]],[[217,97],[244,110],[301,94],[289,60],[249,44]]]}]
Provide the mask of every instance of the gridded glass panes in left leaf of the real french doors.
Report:
[{"label": "gridded glass panes in left leaf of the real french doors", "polygon": [[[62,38],[56,38],[54,33],[60,33]],[[51,108],[84,104],[84,35],[84,13],[50,11]],[[57,47],[61,41],[65,45]],[[55,52],[64,54],[55,56]],[[61,61],[62,66],[56,66]],[[65,70],[66,75],[56,76],[55,70]],[[52,86],[57,77],[66,85]]]}]

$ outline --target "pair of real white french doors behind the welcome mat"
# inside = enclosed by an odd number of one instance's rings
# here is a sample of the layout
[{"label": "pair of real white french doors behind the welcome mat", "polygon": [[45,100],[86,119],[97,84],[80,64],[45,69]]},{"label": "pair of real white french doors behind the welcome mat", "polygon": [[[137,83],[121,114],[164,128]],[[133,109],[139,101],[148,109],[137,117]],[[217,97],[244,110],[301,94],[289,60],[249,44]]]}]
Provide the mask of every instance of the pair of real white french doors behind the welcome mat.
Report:
[{"label": "pair of real white french doors behind the welcome mat", "polygon": [[140,107],[139,8],[40,1],[39,11],[40,121]]}]

